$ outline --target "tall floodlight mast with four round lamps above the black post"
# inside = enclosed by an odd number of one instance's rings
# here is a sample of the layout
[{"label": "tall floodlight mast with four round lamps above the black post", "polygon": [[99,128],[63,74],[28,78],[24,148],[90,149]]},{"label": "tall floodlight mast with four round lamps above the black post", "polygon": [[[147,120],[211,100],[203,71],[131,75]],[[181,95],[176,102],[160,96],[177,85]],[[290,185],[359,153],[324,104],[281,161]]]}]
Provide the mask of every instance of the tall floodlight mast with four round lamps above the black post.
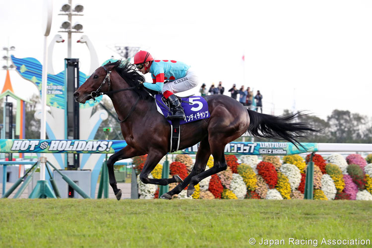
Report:
[{"label": "tall floodlight mast with four round lamps above the black post", "polygon": [[[81,5],[81,4],[76,4],[75,7],[72,9],[72,0],[68,0],[68,3],[64,3],[61,7],[61,12],[63,13],[60,13],[58,15],[67,15],[68,16],[68,20],[66,21],[63,21],[62,24],[61,24],[61,27],[62,31],[58,31],[58,32],[62,32],[62,33],[67,33],[67,58],[71,58],[71,37],[72,37],[72,33],[83,33],[81,30],[83,29],[83,25],[79,22],[75,22],[73,25],[72,25],[72,16],[73,15],[78,15],[78,16],[82,16],[84,14],[81,14],[81,12],[83,12],[84,10],[84,6]],[[75,30],[75,31],[73,31]]]}]

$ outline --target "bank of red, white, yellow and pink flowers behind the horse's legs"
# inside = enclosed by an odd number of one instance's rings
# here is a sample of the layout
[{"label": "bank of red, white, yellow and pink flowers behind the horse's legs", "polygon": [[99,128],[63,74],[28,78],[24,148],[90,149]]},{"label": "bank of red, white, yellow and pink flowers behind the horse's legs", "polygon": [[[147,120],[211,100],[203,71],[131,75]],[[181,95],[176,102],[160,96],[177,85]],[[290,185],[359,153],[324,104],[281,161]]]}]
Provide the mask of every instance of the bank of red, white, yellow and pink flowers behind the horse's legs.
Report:
[{"label": "bank of red, white, yellow and pink flowers behind the horse's legs", "polygon": [[[186,190],[174,195],[179,199],[303,199],[307,166],[299,155],[264,156],[259,161],[257,156],[227,155],[227,170],[203,179],[195,186],[194,193],[187,197]],[[143,167],[146,156],[136,158],[136,168]],[[372,164],[362,161],[363,157],[333,154],[324,160],[314,154],[314,199],[319,200],[372,200]],[[177,155],[175,162],[170,164],[170,177],[179,175],[185,179],[190,170],[192,159]],[[238,163],[242,161],[242,163]],[[310,156],[307,156],[307,163]],[[325,161],[328,164],[325,164]],[[350,164],[354,162],[356,164]],[[245,163],[243,163],[245,162]],[[185,165],[188,164],[188,166]],[[275,163],[275,165],[274,165]],[[338,163],[338,164],[337,164]],[[206,170],[213,167],[213,157],[210,156]],[[161,178],[162,165],[155,167],[150,178]],[[177,186],[170,185],[170,190]],[[187,188],[187,186],[186,186]],[[185,188],[185,189],[186,189]],[[140,198],[158,197],[158,186],[142,184],[138,179]]]}]

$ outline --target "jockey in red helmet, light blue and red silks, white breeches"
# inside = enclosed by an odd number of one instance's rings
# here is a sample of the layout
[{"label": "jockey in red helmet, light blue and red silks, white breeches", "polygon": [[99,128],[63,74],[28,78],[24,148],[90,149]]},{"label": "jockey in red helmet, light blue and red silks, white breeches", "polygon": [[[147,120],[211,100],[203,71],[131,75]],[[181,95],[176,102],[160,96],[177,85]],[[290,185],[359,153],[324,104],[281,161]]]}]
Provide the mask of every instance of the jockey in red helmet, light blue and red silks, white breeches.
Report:
[{"label": "jockey in red helmet, light blue and red silks, white breeches", "polygon": [[[174,93],[183,92],[198,85],[198,77],[190,66],[179,61],[154,60],[150,53],[139,51],[134,55],[134,64],[142,74],[151,73],[152,83],[143,86],[158,91],[168,100],[172,115],[168,119],[185,119],[184,109]],[[164,80],[168,80],[164,84]]]}]

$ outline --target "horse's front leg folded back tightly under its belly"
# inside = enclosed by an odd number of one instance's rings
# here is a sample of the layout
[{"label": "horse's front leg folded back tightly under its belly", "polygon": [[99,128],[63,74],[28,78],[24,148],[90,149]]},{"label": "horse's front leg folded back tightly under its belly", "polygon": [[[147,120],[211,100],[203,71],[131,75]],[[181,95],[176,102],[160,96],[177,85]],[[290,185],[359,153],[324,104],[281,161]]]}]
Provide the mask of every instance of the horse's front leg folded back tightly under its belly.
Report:
[{"label": "horse's front leg folded back tightly under its belly", "polygon": [[182,183],[183,180],[178,176],[173,176],[173,178],[164,178],[164,179],[152,179],[148,178],[148,175],[154,170],[159,161],[165,156],[164,153],[159,151],[151,151],[147,155],[145,165],[141,173],[139,174],[139,179],[144,184],[153,184],[153,185],[168,185],[171,183]]}]

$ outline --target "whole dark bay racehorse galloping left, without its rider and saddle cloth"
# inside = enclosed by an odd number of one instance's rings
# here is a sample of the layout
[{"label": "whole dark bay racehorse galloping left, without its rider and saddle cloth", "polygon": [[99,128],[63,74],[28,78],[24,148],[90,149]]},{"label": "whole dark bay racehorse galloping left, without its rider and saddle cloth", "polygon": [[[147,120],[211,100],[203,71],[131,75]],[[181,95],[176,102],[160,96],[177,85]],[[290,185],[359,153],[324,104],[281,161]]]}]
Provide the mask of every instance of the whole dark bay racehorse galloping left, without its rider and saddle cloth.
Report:
[{"label": "whole dark bay racehorse galloping left, without its rider and saddle cloth", "polygon": [[[164,116],[158,113],[149,91],[141,85],[144,80],[135,66],[128,62],[108,63],[96,69],[73,94],[75,100],[82,104],[102,94],[107,94],[113,102],[127,143],[122,150],[110,156],[107,163],[110,185],[118,200],[122,195],[114,175],[114,163],[118,160],[148,154],[140,180],[155,185],[180,183],[161,196],[163,199],[172,199],[172,195],[180,193],[187,185],[187,196],[190,196],[195,190],[194,186],[201,180],[226,170],[225,145],[247,130],[255,137],[285,139],[294,144],[298,144],[297,139],[306,137],[309,132],[318,132],[308,124],[293,122],[300,113],[285,117],[265,115],[247,110],[229,96],[205,96],[210,118],[181,125],[180,150],[200,142],[192,171],[185,181],[178,176],[151,179],[148,178],[150,172],[170,151],[171,128]],[[211,154],[214,165],[204,171]]]}]

